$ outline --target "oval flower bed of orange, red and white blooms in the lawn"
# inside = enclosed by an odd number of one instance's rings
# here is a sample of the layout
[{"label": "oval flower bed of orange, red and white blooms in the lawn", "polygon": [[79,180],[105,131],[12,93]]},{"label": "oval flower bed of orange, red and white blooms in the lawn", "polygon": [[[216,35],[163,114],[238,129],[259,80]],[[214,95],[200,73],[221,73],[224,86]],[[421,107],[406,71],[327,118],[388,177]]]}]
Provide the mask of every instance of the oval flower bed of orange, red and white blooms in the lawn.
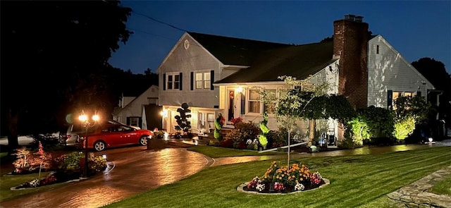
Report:
[{"label": "oval flower bed of orange, red and white blooms in the lawn", "polygon": [[310,173],[304,164],[279,167],[277,162],[273,161],[264,176],[255,176],[238,189],[257,193],[290,193],[320,188],[328,183],[319,172]]}]

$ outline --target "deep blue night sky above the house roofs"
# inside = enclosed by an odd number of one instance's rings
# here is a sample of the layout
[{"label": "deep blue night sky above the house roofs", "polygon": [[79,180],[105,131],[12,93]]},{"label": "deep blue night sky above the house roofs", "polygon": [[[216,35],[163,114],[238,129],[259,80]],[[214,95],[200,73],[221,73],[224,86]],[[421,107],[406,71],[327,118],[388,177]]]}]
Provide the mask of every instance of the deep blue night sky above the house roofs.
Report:
[{"label": "deep blue night sky above the house roofs", "polygon": [[451,74],[451,1],[122,1],[134,32],[109,63],[132,73],[153,72],[183,32],[286,44],[333,35],[333,21],[363,16],[409,63],[429,57]]}]

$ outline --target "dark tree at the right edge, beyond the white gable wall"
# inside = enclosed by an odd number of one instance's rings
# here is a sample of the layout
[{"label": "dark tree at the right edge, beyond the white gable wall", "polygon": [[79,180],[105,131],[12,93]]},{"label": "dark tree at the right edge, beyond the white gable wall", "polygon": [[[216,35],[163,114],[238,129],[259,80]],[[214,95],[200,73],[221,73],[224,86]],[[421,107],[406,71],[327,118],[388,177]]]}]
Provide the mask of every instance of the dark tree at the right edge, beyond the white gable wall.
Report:
[{"label": "dark tree at the right edge, beyond the white gable wall", "polygon": [[[439,119],[444,119],[447,122],[447,126],[450,126],[451,75],[446,72],[445,64],[441,61],[426,57],[412,62],[412,66],[434,85],[435,90],[443,91],[443,93],[440,94],[440,105],[435,107],[438,108],[438,113],[440,115]],[[428,97],[428,100],[433,101],[433,106],[436,104],[435,96]]]}]

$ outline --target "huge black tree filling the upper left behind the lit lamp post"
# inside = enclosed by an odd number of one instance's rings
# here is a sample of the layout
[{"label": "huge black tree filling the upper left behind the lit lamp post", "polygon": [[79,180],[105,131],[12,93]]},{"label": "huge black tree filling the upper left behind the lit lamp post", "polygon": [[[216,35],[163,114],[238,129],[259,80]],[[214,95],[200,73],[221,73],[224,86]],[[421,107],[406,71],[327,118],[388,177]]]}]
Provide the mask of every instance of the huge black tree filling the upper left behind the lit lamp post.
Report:
[{"label": "huge black tree filling the upper left behind the lit lamp post", "polygon": [[[127,42],[131,9],[120,1],[0,1],[1,135],[44,133],[116,104],[107,63]],[[67,115],[67,116],[66,116]]]}]

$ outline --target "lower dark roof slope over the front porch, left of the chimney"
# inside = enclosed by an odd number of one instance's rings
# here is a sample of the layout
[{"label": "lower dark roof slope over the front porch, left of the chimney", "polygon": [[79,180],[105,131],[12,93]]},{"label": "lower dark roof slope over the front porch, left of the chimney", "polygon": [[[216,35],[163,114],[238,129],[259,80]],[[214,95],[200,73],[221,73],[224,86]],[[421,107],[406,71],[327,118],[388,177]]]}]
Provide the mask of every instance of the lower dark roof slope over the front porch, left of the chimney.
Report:
[{"label": "lower dark roof slope over the front porch, left of the chimney", "polygon": [[333,63],[333,42],[287,46],[262,51],[249,68],[214,82],[215,84],[280,81],[289,75],[305,79]]}]

